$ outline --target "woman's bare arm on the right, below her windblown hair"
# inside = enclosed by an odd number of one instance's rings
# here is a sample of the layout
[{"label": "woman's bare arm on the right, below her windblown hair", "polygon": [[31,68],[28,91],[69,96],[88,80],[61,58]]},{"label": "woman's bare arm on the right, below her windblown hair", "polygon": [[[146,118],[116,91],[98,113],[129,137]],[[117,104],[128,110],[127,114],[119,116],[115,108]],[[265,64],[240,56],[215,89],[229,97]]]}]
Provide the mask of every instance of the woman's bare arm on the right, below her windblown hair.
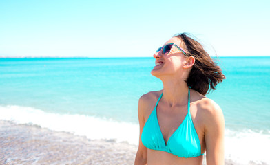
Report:
[{"label": "woman's bare arm on the right, below her windblown hair", "polygon": [[212,100],[207,101],[204,120],[207,165],[223,165],[225,120],[222,110]]}]

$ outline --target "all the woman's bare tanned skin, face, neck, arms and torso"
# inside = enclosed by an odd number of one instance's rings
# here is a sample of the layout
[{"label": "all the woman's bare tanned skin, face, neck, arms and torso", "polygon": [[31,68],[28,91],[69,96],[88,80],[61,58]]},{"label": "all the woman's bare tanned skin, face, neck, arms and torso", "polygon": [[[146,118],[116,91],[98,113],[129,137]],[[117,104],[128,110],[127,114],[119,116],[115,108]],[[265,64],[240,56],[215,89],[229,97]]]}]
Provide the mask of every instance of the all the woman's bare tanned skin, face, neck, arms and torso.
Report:
[{"label": "all the woman's bare tanned skin, face, neck, arms and torso", "polygon": [[[178,38],[172,38],[165,44],[167,43],[181,45]],[[151,74],[162,80],[163,90],[150,91],[141,96],[138,101],[140,138],[135,164],[202,164],[203,156],[178,157],[164,151],[147,149],[141,142],[143,126],[162,92],[163,97],[156,109],[160,130],[166,144],[187,115],[188,87],[184,80],[194,65],[194,57],[185,57],[176,47],[173,47],[170,54],[158,52],[154,54],[154,58],[156,63],[161,61],[162,65],[154,67]],[[190,89],[190,113],[200,140],[201,153],[205,151],[207,153],[207,165],[224,164],[225,122],[222,110],[213,100]]]}]

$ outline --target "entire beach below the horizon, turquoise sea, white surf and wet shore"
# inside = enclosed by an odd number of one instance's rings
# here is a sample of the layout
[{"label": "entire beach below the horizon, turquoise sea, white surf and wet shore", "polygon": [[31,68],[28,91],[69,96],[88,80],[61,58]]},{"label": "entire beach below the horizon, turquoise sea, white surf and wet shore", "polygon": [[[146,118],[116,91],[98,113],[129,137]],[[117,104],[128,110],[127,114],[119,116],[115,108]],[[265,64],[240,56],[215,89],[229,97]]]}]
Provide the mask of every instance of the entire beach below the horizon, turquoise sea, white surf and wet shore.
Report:
[{"label": "entire beach below the horizon, turquoise sea, white surf and wet shore", "polygon": [[[0,164],[134,164],[138,99],[163,88],[152,65],[0,58]],[[225,163],[270,164],[270,58],[224,57],[219,65],[227,79],[207,97],[225,116]]]}]

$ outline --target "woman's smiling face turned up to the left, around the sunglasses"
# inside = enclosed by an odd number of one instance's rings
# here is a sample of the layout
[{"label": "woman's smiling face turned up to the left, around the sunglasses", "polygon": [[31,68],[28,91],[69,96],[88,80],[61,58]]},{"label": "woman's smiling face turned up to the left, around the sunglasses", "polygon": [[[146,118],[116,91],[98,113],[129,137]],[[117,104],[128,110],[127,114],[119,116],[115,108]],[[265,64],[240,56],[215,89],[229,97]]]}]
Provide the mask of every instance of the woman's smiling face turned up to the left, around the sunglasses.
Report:
[{"label": "woman's smiling face turned up to the left, around the sunglasses", "polygon": [[[167,45],[168,43],[175,43],[181,47],[181,40],[176,37],[169,39],[164,45]],[[169,54],[162,54],[162,51],[156,52],[154,58],[156,59],[156,66],[151,71],[153,76],[159,78],[160,76],[177,76],[183,73],[183,65],[186,57],[177,47],[173,46]]]}]

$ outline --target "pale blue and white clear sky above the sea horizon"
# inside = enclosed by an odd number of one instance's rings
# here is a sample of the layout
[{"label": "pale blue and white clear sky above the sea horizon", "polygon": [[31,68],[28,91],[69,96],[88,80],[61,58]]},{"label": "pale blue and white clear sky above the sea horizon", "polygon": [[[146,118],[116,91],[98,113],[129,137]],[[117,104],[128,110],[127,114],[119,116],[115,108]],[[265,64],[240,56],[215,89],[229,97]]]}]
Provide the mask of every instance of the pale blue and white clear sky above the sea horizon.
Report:
[{"label": "pale blue and white clear sky above the sea horizon", "polygon": [[188,32],[211,56],[270,56],[269,0],[1,0],[0,57],[151,57]]}]

